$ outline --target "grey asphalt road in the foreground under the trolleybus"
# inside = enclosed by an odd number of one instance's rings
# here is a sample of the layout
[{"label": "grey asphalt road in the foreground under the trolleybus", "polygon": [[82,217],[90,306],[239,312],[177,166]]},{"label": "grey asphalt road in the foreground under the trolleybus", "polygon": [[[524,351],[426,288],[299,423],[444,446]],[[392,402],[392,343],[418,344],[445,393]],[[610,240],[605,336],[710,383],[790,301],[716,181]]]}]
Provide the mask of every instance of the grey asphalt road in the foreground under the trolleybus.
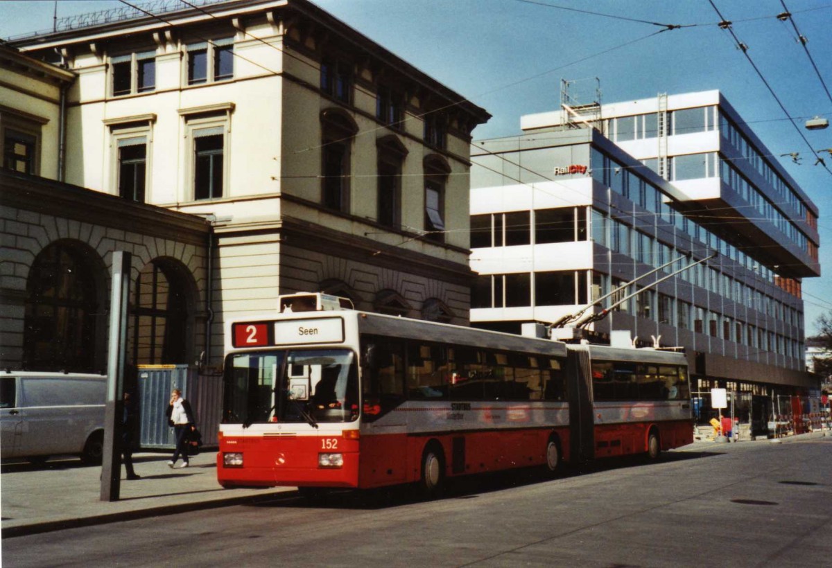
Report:
[{"label": "grey asphalt road in the foreground under the trolleybus", "polygon": [[3,566],[830,566],[832,437],[713,446],[408,491],[2,542]]}]

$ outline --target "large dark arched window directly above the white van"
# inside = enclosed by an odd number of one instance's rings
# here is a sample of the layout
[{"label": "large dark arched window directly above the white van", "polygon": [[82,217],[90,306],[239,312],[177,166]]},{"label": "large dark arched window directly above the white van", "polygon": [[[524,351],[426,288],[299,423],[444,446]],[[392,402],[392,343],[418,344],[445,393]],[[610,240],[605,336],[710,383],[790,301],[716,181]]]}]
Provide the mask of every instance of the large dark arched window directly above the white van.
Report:
[{"label": "large dark arched window directly above the white van", "polygon": [[77,247],[47,246],[32,263],[26,286],[23,368],[92,372],[97,287]]}]

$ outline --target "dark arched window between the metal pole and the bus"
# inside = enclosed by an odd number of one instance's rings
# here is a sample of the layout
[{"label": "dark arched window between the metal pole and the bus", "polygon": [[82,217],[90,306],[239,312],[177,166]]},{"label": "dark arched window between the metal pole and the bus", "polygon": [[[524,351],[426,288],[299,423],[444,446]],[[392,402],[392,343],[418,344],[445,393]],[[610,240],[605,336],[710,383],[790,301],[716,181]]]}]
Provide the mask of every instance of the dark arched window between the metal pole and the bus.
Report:
[{"label": "dark arched window between the metal pole and the bus", "polygon": [[186,294],[176,269],[159,260],[141,269],[133,292],[131,316],[134,363],[188,363]]}]

